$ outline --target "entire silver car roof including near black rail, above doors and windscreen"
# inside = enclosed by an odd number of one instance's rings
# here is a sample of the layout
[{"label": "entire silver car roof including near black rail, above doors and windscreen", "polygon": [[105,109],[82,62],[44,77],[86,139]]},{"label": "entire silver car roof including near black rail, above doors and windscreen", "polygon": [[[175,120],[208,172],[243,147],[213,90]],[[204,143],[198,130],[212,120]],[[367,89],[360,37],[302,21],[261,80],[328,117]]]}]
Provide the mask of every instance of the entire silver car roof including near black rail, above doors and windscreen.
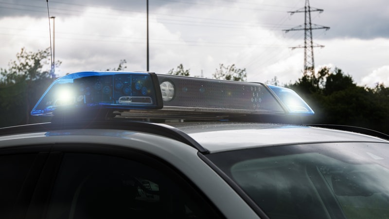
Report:
[{"label": "entire silver car roof including near black rail, above doors and windscreen", "polygon": [[173,139],[196,148],[201,153],[217,153],[253,147],[328,143],[389,141],[349,131],[302,125],[249,122],[183,122],[149,123],[134,121],[94,121],[89,124],[46,123],[1,128],[2,140],[35,138],[38,136],[115,136],[125,138],[128,133],[145,133]]}]

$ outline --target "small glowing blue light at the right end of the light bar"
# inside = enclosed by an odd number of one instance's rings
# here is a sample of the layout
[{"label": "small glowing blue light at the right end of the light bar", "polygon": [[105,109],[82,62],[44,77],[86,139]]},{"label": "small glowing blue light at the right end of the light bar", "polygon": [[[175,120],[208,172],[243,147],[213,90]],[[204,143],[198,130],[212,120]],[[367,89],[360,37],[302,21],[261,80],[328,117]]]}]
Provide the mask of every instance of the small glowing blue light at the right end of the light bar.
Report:
[{"label": "small glowing blue light at the right end of the light bar", "polygon": [[307,103],[295,91],[268,85],[268,87],[277,95],[283,105],[287,108],[288,114],[298,115],[313,115],[315,112],[308,106]]}]

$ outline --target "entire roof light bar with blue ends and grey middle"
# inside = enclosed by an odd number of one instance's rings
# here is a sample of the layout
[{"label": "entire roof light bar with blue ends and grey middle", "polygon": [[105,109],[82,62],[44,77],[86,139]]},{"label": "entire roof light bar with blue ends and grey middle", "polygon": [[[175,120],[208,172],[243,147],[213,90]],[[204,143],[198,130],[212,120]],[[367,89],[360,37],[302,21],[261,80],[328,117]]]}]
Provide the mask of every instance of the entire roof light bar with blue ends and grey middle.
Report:
[{"label": "entire roof light bar with blue ends and grey middle", "polygon": [[[92,109],[143,112],[313,115],[290,89],[262,83],[140,72],[81,72],[58,78],[32,115]],[[157,112],[155,112],[157,111]],[[167,116],[169,117],[169,116]]]}]

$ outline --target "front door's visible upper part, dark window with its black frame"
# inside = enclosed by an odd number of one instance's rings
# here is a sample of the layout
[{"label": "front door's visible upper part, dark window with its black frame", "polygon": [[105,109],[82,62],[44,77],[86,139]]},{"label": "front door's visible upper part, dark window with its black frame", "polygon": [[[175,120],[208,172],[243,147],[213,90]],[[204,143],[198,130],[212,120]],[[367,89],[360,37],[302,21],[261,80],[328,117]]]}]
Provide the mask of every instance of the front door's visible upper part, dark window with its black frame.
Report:
[{"label": "front door's visible upper part, dark window with its black frame", "polygon": [[96,144],[53,146],[27,216],[224,218],[195,184],[162,159]]}]

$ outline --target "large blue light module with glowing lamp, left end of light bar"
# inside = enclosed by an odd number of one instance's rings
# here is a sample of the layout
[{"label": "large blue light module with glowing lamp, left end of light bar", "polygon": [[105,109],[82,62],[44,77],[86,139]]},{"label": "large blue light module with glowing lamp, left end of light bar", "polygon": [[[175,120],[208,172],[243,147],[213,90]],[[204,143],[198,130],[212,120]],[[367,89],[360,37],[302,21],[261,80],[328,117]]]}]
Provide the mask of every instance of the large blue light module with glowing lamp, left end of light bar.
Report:
[{"label": "large blue light module with glowing lamp, left end of light bar", "polygon": [[161,109],[155,73],[81,72],[58,78],[31,111],[50,116],[55,110]]}]

